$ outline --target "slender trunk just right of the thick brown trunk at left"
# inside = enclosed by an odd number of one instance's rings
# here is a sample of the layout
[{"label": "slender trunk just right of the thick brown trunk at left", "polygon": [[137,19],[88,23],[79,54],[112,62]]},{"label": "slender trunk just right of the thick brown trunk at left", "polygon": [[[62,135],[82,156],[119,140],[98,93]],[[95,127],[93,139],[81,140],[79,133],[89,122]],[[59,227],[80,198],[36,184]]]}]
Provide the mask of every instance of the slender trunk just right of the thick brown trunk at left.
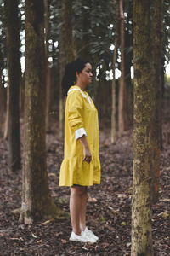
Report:
[{"label": "slender trunk just right of the thick brown trunk at left", "polygon": [[46,131],[49,129],[49,108],[50,108],[50,68],[48,61],[48,39],[49,39],[49,3],[44,0],[45,9],[45,54],[46,54]]}]

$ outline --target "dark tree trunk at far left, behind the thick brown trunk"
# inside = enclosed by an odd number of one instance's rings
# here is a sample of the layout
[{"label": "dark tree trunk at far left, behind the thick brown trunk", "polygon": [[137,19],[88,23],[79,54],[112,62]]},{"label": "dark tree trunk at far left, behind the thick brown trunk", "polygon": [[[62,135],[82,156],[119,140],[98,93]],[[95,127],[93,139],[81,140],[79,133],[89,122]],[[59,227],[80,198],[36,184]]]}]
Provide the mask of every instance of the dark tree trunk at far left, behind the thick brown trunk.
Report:
[{"label": "dark tree trunk at far left, behind the thick brown trunk", "polygon": [[9,167],[20,169],[20,29],[18,1],[5,1],[8,68],[8,157]]}]

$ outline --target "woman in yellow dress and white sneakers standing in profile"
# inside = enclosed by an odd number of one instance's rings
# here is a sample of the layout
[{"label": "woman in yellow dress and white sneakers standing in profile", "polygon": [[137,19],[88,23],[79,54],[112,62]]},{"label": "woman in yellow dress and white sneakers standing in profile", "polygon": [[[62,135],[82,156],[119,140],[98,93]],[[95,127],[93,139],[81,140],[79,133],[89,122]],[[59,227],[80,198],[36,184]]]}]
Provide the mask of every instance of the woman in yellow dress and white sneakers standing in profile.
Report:
[{"label": "woman in yellow dress and white sneakers standing in profile", "polygon": [[70,186],[71,241],[95,242],[98,237],[86,227],[87,188],[100,183],[99,124],[94,102],[86,88],[92,66],[80,59],[65,67],[65,156],[59,186]]}]

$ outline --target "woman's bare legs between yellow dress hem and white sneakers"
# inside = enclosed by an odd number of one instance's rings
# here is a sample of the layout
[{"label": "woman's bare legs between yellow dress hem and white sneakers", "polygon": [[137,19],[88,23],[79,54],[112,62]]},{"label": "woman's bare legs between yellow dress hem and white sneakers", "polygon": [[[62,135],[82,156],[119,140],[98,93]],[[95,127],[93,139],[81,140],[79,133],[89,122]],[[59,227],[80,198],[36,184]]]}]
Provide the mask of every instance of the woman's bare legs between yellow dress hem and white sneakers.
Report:
[{"label": "woman's bare legs between yellow dress hem and white sneakers", "polygon": [[85,225],[87,187],[73,186],[71,187],[70,212],[72,230],[81,235],[82,228]]}]

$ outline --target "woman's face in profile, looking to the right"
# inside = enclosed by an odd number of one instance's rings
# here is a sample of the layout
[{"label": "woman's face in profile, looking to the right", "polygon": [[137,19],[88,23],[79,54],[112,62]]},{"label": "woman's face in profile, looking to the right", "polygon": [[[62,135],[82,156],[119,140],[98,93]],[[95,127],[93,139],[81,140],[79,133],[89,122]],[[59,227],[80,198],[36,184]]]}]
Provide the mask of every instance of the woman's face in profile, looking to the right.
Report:
[{"label": "woman's face in profile, looking to the right", "polygon": [[92,82],[92,66],[90,63],[86,63],[81,73],[77,73],[77,83],[87,86]]}]

